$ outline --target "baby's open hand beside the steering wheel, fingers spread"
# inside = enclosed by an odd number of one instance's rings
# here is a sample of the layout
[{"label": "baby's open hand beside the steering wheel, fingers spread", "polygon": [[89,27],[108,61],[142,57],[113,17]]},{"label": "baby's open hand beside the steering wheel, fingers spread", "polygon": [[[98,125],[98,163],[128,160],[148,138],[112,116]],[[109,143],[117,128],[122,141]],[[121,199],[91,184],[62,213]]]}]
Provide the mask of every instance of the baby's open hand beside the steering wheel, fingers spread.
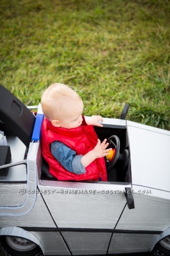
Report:
[{"label": "baby's open hand beside the steering wheel, fingers spread", "polygon": [[93,153],[95,154],[95,158],[100,158],[100,157],[104,157],[107,156],[110,150],[112,150],[112,148],[107,148],[107,146],[109,145],[109,143],[106,143],[106,139],[104,139],[103,142],[100,142],[100,140],[98,139],[97,145],[96,147],[92,150]]}]

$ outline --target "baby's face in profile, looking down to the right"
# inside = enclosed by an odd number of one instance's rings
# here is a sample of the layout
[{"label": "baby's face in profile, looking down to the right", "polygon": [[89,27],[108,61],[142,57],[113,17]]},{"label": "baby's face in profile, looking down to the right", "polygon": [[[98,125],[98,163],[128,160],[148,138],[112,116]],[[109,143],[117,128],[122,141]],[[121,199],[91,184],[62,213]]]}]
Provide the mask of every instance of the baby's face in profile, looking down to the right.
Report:
[{"label": "baby's face in profile, looking down to the right", "polygon": [[67,102],[66,113],[63,115],[60,124],[62,128],[77,128],[82,124],[83,102],[81,99]]}]

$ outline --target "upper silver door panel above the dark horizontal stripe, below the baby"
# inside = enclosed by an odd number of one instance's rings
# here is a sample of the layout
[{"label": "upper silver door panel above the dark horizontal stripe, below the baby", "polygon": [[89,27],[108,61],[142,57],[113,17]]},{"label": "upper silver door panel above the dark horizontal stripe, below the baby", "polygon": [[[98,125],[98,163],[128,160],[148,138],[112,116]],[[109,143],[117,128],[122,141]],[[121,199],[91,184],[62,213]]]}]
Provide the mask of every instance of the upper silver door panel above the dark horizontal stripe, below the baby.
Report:
[{"label": "upper silver door panel above the dark horizontal stripe, below the baby", "polygon": [[108,182],[51,184],[39,189],[56,225],[62,228],[113,229],[126,205],[125,187],[130,187]]}]

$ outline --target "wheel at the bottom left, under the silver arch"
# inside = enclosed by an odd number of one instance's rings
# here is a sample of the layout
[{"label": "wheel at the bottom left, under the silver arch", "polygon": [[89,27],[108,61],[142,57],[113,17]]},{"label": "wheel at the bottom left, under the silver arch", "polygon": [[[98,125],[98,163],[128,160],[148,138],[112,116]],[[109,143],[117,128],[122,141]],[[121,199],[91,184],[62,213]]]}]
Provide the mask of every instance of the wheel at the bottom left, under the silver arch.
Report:
[{"label": "wheel at the bottom left, under the silver arch", "polygon": [[7,256],[43,256],[38,245],[21,237],[3,236],[1,245]]}]

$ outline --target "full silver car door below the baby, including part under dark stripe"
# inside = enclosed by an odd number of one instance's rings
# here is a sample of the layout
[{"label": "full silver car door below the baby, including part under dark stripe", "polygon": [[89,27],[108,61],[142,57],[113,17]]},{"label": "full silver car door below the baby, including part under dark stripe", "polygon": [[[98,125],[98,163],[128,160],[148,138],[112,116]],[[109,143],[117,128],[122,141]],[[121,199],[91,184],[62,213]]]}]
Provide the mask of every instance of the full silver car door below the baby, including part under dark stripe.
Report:
[{"label": "full silver car door below the baby, including part under dark stripe", "polygon": [[72,254],[106,254],[127,204],[125,187],[130,184],[65,181],[50,181],[50,184],[40,185],[39,190]]}]

